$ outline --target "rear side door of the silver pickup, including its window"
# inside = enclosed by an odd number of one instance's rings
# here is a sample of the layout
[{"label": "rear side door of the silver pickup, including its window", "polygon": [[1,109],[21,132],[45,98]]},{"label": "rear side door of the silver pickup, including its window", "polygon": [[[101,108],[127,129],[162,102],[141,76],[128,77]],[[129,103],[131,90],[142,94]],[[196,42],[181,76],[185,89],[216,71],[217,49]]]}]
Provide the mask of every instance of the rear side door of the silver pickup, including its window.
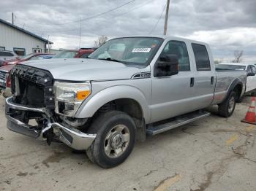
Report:
[{"label": "rear side door of the silver pickup, including its window", "polygon": [[194,104],[196,104],[197,109],[203,109],[211,104],[214,98],[216,71],[213,59],[209,58],[209,48],[203,44],[192,43],[191,45],[196,66]]}]

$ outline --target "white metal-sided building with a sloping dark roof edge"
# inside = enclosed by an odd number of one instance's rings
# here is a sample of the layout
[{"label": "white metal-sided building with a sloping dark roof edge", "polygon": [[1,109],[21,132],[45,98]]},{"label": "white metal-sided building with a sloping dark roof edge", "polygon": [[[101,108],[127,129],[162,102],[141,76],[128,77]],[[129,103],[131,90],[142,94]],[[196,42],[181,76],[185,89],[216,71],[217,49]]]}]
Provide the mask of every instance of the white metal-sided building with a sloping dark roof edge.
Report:
[{"label": "white metal-sided building with a sloping dark roof edge", "polygon": [[35,52],[47,52],[47,46],[50,44],[53,42],[48,42],[41,36],[0,19],[0,50],[10,50],[18,55],[28,55]]}]

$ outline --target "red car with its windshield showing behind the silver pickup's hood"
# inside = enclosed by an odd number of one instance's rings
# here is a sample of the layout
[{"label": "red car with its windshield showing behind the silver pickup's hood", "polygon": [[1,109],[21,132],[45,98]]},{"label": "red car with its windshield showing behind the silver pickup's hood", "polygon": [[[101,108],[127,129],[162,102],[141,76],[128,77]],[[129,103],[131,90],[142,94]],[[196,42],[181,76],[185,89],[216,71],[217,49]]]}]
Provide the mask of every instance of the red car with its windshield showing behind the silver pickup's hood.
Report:
[{"label": "red car with its windshield showing behind the silver pickup's hood", "polygon": [[53,58],[87,58],[92,52],[93,49],[63,50]]}]

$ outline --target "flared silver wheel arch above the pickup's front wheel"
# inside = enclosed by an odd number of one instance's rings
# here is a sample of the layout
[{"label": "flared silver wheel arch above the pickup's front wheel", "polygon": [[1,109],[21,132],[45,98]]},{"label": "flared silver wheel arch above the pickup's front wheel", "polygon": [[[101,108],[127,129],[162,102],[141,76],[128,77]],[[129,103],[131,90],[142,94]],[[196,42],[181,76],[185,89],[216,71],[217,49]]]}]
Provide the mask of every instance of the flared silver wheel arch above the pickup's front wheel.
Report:
[{"label": "flared silver wheel arch above the pickup's front wheel", "polygon": [[138,88],[128,85],[117,85],[99,91],[99,93],[93,95],[88,101],[84,101],[83,104],[81,104],[75,117],[92,117],[101,106],[119,98],[130,98],[137,101],[143,111],[145,122],[150,121],[151,112],[146,97]]}]

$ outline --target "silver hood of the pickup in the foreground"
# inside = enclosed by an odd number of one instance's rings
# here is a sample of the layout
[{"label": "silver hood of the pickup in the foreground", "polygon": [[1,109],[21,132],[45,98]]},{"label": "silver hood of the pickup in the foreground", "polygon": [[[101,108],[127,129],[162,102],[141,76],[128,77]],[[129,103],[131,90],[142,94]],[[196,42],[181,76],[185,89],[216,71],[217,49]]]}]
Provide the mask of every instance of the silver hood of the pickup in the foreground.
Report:
[{"label": "silver hood of the pickup in the foreground", "polygon": [[79,58],[53,58],[23,62],[23,65],[50,71],[54,79],[71,81],[129,79],[139,73],[136,67],[123,63]]}]

